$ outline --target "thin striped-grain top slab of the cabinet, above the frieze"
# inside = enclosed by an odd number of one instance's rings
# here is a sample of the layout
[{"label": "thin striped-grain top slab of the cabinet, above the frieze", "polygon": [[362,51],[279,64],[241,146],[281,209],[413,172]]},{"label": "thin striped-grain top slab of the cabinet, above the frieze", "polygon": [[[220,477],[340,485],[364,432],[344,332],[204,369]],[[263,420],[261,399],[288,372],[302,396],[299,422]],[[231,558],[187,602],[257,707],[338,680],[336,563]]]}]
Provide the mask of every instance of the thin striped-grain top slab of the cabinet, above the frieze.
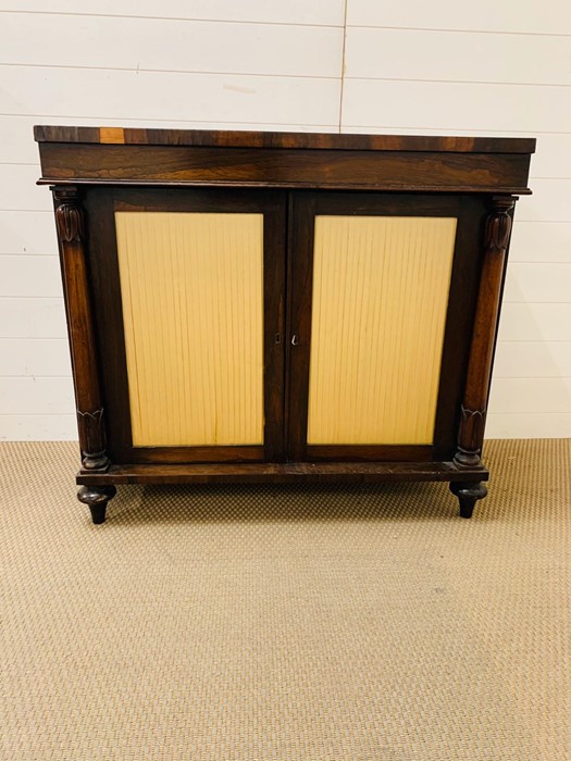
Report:
[{"label": "thin striped-grain top slab of the cabinet, above the frieze", "polygon": [[533,153],[534,138],[435,135],[340,135],[141,127],[35,126],[37,142],[122,146],[288,148],[305,150],[430,151],[444,153]]}]

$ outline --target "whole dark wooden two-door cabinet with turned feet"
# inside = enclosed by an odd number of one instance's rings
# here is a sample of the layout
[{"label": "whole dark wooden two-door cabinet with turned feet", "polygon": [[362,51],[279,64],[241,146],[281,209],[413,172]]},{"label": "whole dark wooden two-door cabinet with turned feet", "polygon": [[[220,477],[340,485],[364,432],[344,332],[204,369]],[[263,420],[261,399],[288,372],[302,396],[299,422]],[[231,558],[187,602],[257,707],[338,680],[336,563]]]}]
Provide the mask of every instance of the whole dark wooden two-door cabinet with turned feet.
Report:
[{"label": "whole dark wooden two-door cabinet with turned feet", "polygon": [[36,127],[78,498],[117,484],[446,481],[485,496],[529,139]]}]

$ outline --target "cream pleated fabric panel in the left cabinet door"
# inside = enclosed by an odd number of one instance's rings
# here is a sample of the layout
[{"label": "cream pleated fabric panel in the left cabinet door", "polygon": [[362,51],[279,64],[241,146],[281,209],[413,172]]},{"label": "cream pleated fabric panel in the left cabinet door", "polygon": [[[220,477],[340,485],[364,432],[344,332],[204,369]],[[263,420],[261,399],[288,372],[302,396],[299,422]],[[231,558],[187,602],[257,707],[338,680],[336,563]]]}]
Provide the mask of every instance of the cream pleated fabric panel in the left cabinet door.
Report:
[{"label": "cream pleated fabric panel in the left cabinet door", "polygon": [[263,444],[263,215],[116,212],[133,444]]}]

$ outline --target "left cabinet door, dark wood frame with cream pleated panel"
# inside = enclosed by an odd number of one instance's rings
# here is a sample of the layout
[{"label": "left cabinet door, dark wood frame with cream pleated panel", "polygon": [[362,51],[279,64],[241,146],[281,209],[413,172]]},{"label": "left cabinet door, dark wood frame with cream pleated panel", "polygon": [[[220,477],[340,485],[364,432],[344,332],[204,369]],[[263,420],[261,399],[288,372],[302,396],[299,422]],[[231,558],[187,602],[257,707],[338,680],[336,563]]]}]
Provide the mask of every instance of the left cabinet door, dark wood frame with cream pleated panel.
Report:
[{"label": "left cabinet door, dark wood frame with cream pleated panel", "polygon": [[280,459],[285,195],[105,188],[86,211],[112,461]]}]

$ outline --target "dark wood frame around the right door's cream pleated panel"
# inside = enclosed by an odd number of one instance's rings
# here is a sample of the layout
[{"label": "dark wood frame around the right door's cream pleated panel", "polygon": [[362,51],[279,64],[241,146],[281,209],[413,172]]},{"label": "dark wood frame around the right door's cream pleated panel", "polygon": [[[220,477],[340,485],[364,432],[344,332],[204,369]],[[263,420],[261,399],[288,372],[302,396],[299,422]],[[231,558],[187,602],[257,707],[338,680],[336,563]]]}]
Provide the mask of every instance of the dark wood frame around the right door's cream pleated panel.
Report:
[{"label": "dark wood frame around the right door's cream pleated panel", "polygon": [[[290,386],[286,412],[289,451],[296,461],[427,462],[451,459],[456,451],[458,410],[468,367],[470,335],[482,264],[479,233],[486,216],[482,199],[470,196],[393,194],[297,192],[293,202],[287,366]],[[307,445],[313,235],[315,215],[456,216],[449,301],[440,364],[434,444],[418,445]],[[291,335],[297,345],[293,347]]]}]

